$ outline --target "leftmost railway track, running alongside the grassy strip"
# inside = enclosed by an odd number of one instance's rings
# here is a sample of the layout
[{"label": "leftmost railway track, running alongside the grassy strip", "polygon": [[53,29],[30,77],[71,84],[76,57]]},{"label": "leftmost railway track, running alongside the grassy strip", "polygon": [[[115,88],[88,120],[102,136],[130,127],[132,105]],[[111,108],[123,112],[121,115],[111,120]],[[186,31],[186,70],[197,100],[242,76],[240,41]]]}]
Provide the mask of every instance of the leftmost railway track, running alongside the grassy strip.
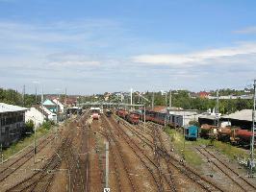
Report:
[{"label": "leftmost railway track, running alongside the grassy strip", "polygon": [[[46,147],[52,140],[54,136],[48,136],[38,143],[37,153],[40,152],[44,147]],[[18,170],[22,165],[29,161],[34,156],[34,149],[24,153],[24,155],[19,156],[12,163],[6,165],[5,168],[0,170],[0,182],[6,180],[10,177],[16,170]]]}]

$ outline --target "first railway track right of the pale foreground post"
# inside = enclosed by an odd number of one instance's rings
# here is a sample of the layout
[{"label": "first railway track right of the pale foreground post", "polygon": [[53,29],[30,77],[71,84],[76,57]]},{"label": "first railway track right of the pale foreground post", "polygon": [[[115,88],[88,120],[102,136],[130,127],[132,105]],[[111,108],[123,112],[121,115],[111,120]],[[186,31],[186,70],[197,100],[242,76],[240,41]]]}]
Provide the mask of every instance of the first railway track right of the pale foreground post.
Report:
[{"label": "first railway track right of the pale foreground post", "polygon": [[[106,138],[108,139],[108,141],[109,141],[109,143],[110,143],[110,148],[112,149],[112,150],[111,150],[111,153],[112,153],[112,155],[114,155],[114,156],[115,156],[116,154],[118,155],[118,157],[117,157],[117,156],[114,157],[114,158],[115,158],[115,163],[117,162],[116,159],[118,158],[120,164],[122,164],[123,169],[124,169],[124,171],[125,171],[125,176],[126,176],[126,177],[123,177],[123,179],[124,179],[124,178],[127,178],[127,179],[128,179],[128,182],[130,183],[130,186],[131,186],[131,191],[135,191],[135,192],[138,191],[138,192],[139,192],[137,185],[135,184],[134,180],[132,179],[131,175],[129,174],[129,169],[128,169],[127,163],[125,162],[125,157],[123,156],[123,154],[122,154],[122,152],[121,152],[121,147],[120,147],[118,141],[115,139],[114,133],[113,133],[112,130],[110,129],[110,127],[113,127],[113,125],[106,119],[105,116],[103,117],[102,120],[103,120],[104,125],[106,125],[105,127],[107,127],[107,129],[108,129],[108,131],[109,131],[109,132],[105,131],[105,136],[106,136]],[[112,141],[115,143],[115,145],[113,145]],[[115,147],[114,147],[114,146],[115,146]],[[116,152],[116,153],[113,152],[114,149],[115,149],[115,152]],[[116,167],[116,165],[115,165],[115,167]],[[117,167],[116,167],[116,169],[117,169]],[[118,176],[117,176],[117,177],[118,177],[118,178],[117,178],[117,180],[118,180],[118,186],[119,186],[120,190],[122,191],[121,181],[120,181],[120,178],[119,178],[120,172],[117,171],[117,173],[118,173]],[[126,184],[126,183],[125,183],[125,184]],[[124,183],[123,183],[123,185],[124,185]],[[123,186],[123,187],[124,187],[124,186]]]}]

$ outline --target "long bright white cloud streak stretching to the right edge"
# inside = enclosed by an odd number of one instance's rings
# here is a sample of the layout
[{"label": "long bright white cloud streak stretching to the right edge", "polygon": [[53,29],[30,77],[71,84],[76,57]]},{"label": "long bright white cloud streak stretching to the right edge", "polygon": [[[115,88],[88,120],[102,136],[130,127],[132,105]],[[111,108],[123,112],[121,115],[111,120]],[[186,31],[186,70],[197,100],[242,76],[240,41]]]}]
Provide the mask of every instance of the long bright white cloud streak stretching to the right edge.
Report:
[{"label": "long bright white cloud streak stretching to the right edge", "polygon": [[202,65],[211,60],[232,59],[238,56],[256,54],[256,42],[243,42],[233,47],[208,49],[188,54],[139,55],[132,60],[139,63],[166,64],[172,66]]}]

